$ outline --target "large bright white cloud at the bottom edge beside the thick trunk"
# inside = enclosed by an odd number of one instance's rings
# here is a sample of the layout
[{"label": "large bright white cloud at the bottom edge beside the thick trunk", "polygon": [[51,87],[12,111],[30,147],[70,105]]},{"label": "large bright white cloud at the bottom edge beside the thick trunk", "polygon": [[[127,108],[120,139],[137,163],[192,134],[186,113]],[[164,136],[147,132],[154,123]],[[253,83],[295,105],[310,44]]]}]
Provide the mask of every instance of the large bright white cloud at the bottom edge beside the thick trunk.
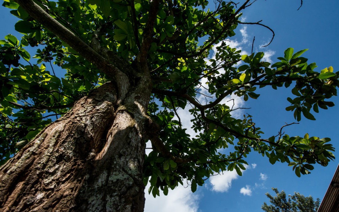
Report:
[{"label": "large bright white cloud at the bottom edge beside the thick trunk", "polygon": [[179,185],[174,190],[169,189],[165,196],[160,191],[160,196],[148,195],[149,185],[145,189],[145,209],[147,212],[197,212],[199,207],[199,195],[192,193],[191,187],[184,188]]}]

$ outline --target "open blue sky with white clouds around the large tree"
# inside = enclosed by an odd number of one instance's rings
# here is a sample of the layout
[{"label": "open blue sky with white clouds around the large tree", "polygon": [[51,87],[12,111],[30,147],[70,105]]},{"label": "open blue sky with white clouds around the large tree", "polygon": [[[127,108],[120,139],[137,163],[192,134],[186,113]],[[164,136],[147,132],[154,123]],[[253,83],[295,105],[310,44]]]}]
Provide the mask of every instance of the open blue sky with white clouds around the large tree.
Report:
[{"label": "open blue sky with white clouds around the large tree", "polygon": [[[213,2],[213,1],[211,1]],[[243,2],[243,1],[241,1]],[[254,25],[240,25],[237,35],[230,39],[230,45],[250,53],[253,36],[255,36],[254,51],[263,51],[268,60],[277,61],[277,57],[283,56],[288,47],[295,51],[309,49],[304,53],[308,62],[316,62],[318,71],[328,66],[333,66],[334,72],[339,71],[338,49],[339,40],[339,2],[327,1],[303,1],[302,7],[298,0],[258,0],[251,7],[243,11],[246,22],[257,22],[270,26],[275,32],[273,42],[265,47],[260,46],[271,39],[272,33],[264,27]],[[0,39],[8,33],[20,37],[14,32],[16,19],[9,13],[9,9],[0,7]],[[261,95],[257,100],[243,102],[237,100],[237,105],[251,108],[242,113],[253,116],[254,122],[265,132],[264,137],[276,135],[280,127],[287,123],[295,122],[291,111],[285,111],[289,106],[286,98],[292,96],[290,89],[264,88],[257,90]],[[285,128],[290,136],[330,137],[332,144],[339,150],[339,98],[332,99],[336,106],[328,110],[321,110],[314,114],[316,121],[302,117],[300,124]],[[187,114],[182,111],[182,116]],[[241,114],[234,114],[241,115]],[[189,123],[187,123],[189,124]],[[335,152],[335,155],[337,153]],[[312,195],[322,199],[328,185],[331,182],[334,171],[338,166],[338,159],[331,161],[327,167],[315,166],[309,175],[297,177],[286,163],[271,165],[267,158],[253,152],[247,158],[249,167],[239,177],[233,172],[224,172],[224,175],[211,177],[205,185],[198,187],[192,194],[190,187],[179,187],[169,191],[168,196],[148,196],[146,192],[146,212],[209,212],[209,211],[236,211],[256,212],[262,211],[261,205],[268,202],[266,192],[271,187],[284,190],[286,194],[299,192],[305,196]]]}]

